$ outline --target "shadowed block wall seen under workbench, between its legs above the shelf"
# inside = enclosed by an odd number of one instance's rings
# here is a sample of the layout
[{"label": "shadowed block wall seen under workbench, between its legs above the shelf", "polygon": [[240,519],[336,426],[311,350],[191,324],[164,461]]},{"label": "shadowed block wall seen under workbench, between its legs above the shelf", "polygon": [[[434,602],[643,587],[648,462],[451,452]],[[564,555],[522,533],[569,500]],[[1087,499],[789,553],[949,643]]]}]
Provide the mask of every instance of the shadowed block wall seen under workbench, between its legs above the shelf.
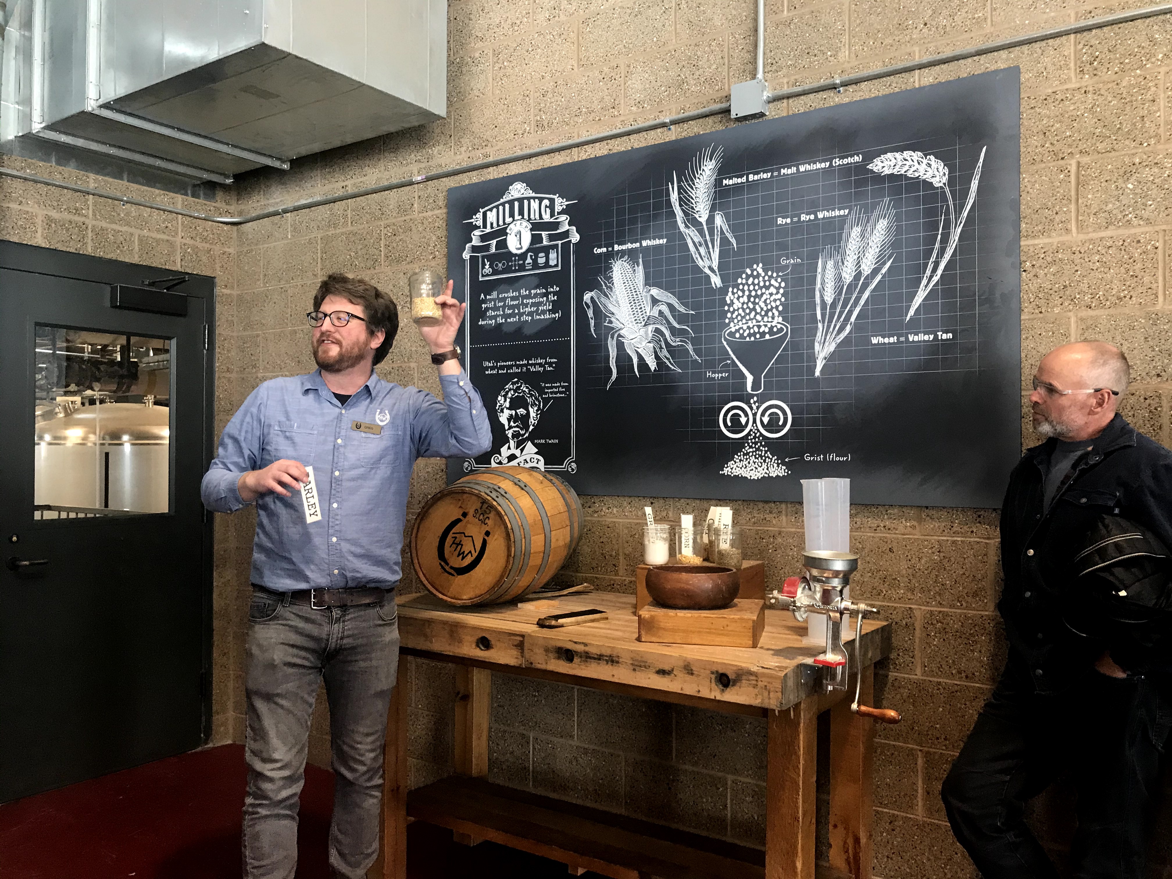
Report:
[{"label": "shadowed block wall seen under workbench, between its legs above the shelf", "polygon": [[493,675],[489,779],[764,844],[765,721]]}]

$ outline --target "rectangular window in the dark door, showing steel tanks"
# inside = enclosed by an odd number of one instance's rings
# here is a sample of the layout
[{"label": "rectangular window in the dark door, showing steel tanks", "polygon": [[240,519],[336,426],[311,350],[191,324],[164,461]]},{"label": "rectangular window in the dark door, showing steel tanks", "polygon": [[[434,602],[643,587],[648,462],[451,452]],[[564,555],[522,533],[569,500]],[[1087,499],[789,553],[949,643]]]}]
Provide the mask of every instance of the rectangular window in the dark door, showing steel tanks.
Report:
[{"label": "rectangular window in the dark door, showing steel tanks", "polygon": [[171,340],[36,327],[35,519],[170,511]]}]

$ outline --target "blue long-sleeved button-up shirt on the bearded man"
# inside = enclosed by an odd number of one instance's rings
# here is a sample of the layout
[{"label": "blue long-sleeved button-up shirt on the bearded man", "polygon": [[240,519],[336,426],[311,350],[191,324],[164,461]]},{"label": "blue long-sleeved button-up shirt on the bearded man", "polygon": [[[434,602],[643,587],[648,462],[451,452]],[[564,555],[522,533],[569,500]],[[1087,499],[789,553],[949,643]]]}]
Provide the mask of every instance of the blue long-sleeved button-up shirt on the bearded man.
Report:
[{"label": "blue long-sleeved button-up shirt on the bearded man", "polygon": [[[252,581],[278,592],[393,587],[407,519],[411,468],[420,457],[476,457],[492,444],[481,395],[461,370],[441,375],[444,401],[372,375],[346,406],[321,370],[272,379],[224,429],[200,496],[216,512],[246,506],[241,473],[288,458],[313,466],[321,522],[306,524],[301,492],[257,498]],[[355,421],[382,424],[373,435]]]}]

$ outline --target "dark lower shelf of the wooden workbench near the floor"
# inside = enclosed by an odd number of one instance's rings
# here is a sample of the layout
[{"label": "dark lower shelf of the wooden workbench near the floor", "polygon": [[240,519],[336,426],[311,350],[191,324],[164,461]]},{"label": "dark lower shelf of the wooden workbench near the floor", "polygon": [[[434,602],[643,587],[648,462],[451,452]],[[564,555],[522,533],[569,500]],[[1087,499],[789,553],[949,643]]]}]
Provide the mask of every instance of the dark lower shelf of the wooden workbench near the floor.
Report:
[{"label": "dark lower shelf of the wooden workbench near the floor", "polygon": [[[600,809],[450,776],[407,796],[411,818],[613,879],[764,879],[765,853]],[[817,879],[846,877],[819,867]]]}]

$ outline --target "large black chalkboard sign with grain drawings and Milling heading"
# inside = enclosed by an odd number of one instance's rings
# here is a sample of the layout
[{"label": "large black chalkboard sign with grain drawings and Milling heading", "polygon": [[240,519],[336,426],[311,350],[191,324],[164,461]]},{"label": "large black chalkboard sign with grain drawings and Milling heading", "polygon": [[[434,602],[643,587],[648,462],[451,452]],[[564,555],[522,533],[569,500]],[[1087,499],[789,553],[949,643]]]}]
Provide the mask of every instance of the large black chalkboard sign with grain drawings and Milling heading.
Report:
[{"label": "large black chalkboard sign with grain drawings and Milling heading", "polygon": [[448,190],[493,449],[587,495],[997,506],[1017,68]]}]

